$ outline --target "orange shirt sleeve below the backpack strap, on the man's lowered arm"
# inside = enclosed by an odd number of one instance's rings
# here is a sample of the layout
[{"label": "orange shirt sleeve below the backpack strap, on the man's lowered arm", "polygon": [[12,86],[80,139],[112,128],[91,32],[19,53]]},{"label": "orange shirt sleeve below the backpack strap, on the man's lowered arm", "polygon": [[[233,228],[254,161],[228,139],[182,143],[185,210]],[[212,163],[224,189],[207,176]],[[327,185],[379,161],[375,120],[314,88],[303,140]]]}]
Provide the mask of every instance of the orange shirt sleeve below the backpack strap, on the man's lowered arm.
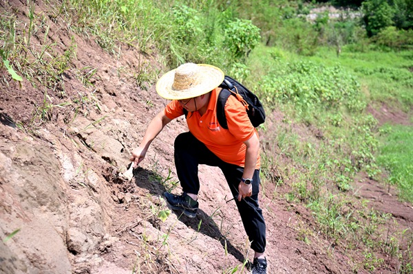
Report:
[{"label": "orange shirt sleeve below the backpack strap, on the man's lowered arm", "polygon": [[253,137],[255,128],[246,113],[245,106],[235,98],[229,96],[225,104],[226,123],[229,132],[240,141],[246,141]]}]

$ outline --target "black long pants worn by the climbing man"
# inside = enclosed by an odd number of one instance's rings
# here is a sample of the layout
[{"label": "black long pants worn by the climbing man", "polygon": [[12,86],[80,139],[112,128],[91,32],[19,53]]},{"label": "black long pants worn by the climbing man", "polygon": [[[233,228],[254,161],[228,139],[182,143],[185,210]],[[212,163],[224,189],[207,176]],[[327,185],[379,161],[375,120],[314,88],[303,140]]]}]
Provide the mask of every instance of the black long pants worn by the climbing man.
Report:
[{"label": "black long pants worn by the climbing man", "polygon": [[[244,168],[222,161],[191,133],[178,135],[175,139],[175,165],[183,192],[198,195],[200,190],[198,165],[200,164],[218,166],[224,173],[233,196],[238,196],[238,185]],[[246,235],[251,242],[251,249],[263,253],[266,245],[266,228],[262,209],[258,205],[260,170],[255,170],[252,184],[253,195],[240,202],[235,199],[235,203],[240,212]]]}]

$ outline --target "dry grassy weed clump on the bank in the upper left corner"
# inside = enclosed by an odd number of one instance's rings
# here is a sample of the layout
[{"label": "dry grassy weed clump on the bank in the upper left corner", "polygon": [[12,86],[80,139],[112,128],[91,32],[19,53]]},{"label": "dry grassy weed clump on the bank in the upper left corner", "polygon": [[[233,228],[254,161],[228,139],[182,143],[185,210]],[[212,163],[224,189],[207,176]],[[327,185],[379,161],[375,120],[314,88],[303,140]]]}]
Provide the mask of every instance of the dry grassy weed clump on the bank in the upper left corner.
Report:
[{"label": "dry grassy weed clump on the bank in the upper left corner", "polygon": [[[6,28],[5,32],[0,34],[0,40],[5,41],[1,49],[3,63],[14,80],[21,81],[23,76],[33,87],[47,87],[63,97],[65,87],[62,74],[70,68],[72,58],[75,56],[74,38],[65,52],[58,54],[55,49],[57,44],[49,38],[50,26],[47,25],[47,16],[35,14],[34,1],[28,0],[27,5],[28,26],[22,27],[23,23],[17,21],[12,12],[6,12],[6,16],[0,21],[0,25]],[[23,32],[17,32],[19,29],[23,29]],[[39,30],[44,32],[43,40],[39,38]],[[34,36],[41,40],[39,41],[41,45],[35,45]]]}]

